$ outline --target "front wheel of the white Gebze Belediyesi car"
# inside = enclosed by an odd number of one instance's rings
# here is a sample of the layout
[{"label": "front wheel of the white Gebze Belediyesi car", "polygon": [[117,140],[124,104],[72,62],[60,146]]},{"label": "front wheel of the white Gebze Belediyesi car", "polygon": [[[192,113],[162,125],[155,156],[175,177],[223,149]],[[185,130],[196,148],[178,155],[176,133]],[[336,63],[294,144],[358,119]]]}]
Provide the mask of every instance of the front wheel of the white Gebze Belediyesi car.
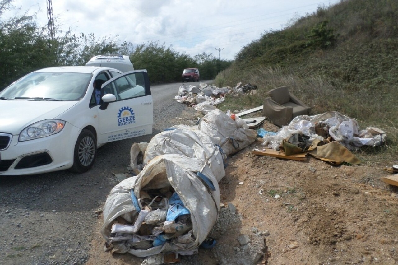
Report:
[{"label": "front wheel of the white Gebze Belediyesi car", "polygon": [[74,154],[73,166],[70,171],[76,173],[83,173],[94,165],[97,156],[97,141],[94,134],[87,129],[84,129],[77,138]]}]

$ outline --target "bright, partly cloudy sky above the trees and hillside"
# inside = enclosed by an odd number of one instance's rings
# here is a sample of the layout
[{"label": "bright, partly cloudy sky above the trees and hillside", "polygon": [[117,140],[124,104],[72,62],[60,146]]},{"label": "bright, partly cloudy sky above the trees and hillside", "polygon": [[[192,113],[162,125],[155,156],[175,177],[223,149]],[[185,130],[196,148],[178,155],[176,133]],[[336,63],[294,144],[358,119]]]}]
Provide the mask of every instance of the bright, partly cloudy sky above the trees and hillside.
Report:
[{"label": "bright, partly cloudy sky above the trees and hillside", "polygon": [[[340,0],[52,0],[56,30],[93,33],[133,45],[159,41],[194,57],[233,60],[242,47],[271,30]],[[14,0],[4,16],[37,14],[47,25],[47,0]],[[57,33],[56,35],[62,33]]]}]

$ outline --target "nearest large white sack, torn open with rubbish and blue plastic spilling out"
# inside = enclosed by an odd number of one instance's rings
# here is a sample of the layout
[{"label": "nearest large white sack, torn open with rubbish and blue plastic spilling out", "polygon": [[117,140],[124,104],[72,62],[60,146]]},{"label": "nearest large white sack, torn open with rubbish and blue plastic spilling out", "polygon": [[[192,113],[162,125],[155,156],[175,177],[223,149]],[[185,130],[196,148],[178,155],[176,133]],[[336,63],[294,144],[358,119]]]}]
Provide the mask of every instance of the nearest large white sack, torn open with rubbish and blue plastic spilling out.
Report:
[{"label": "nearest large white sack, torn open with rubbish and blue plastic spilling out", "polygon": [[[217,221],[219,205],[217,179],[201,160],[177,154],[156,156],[138,176],[123,180],[108,195],[101,227],[105,249],[138,257],[195,254]],[[172,217],[164,221],[163,211]],[[159,222],[143,222],[150,215]],[[172,222],[167,223],[167,218]]]}]

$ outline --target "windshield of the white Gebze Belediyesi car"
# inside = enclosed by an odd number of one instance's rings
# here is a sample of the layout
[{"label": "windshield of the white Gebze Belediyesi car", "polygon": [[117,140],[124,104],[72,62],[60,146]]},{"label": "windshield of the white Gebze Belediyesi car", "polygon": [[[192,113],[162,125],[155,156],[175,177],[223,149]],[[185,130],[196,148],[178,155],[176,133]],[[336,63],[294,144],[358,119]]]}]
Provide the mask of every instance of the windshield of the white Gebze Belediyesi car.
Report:
[{"label": "windshield of the white Gebze Belediyesi car", "polygon": [[92,78],[87,73],[34,72],[0,92],[7,99],[80,100]]}]

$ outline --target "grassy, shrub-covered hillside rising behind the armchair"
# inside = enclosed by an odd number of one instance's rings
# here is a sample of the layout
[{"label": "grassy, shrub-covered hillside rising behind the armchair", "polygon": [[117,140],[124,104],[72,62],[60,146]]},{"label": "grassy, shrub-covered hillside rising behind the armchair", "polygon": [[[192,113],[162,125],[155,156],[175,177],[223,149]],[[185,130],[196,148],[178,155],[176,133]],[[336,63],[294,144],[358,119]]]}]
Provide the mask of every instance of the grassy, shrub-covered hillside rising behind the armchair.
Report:
[{"label": "grassy, shrub-covered hillside rising behind the armchair", "polygon": [[[262,105],[268,90],[289,86],[312,106],[312,114],[339,111],[387,132],[382,148],[363,150],[363,159],[397,162],[398,1],[342,0],[294,21],[282,31],[264,32],[244,47],[218,86],[257,85],[257,95],[230,97],[222,109]],[[361,154],[359,154],[361,156]],[[391,156],[391,157],[389,157]]]}]

